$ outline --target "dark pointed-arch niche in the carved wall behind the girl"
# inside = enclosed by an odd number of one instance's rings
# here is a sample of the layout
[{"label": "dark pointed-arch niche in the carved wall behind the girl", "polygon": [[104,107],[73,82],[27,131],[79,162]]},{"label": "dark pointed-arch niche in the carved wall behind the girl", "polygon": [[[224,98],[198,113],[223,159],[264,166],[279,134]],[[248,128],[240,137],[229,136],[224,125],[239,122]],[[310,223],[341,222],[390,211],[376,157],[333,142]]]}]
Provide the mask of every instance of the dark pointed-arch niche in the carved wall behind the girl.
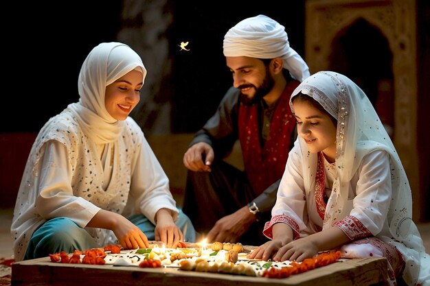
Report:
[{"label": "dark pointed-arch niche in the carved wall behind the girl", "polygon": [[330,71],[339,71],[358,84],[394,140],[393,55],[377,27],[359,18],[333,38]]}]

